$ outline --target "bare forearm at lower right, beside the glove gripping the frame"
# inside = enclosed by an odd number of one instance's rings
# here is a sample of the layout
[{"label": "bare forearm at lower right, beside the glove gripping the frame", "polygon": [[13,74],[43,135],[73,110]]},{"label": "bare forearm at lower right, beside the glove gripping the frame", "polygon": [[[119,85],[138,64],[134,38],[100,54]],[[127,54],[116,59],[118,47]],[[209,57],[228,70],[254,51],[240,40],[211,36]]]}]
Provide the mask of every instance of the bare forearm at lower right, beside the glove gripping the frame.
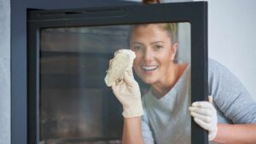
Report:
[{"label": "bare forearm at lower right, beside the glove gripping the frame", "polygon": [[256,124],[218,124],[213,141],[221,144],[254,144]]}]

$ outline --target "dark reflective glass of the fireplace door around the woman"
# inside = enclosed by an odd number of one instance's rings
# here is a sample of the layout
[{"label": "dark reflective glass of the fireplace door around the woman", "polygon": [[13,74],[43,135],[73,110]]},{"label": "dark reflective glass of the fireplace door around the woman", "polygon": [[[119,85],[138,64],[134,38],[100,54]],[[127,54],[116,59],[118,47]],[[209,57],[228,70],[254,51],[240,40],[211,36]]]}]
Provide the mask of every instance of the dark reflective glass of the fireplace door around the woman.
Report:
[{"label": "dark reflective glass of the fireplace door around the woman", "polygon": [[[178,33],[178,43],[179,49],[186,49],[177,57],[190,61],[189,24],[182,24],[185,31]],[[95,26],[41,31],[40,144],[120,143],[122,107],[103,79],[113,52],[127,49],[129,29]],[[147,92],[147,85],[139,84],[142,93]]]}]

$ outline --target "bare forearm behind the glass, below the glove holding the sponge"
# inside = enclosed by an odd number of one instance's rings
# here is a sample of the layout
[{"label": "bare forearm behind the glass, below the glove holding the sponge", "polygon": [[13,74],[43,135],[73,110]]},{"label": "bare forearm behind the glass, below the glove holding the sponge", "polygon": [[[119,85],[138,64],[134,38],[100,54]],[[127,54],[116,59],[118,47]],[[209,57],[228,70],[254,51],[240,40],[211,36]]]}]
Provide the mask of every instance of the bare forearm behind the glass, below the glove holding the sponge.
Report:
[{"label": "bare forearm behind the glass, below the glove holding the sponge", "polygon": [[143,144],[141,118],[124,118],[122,144]]}]

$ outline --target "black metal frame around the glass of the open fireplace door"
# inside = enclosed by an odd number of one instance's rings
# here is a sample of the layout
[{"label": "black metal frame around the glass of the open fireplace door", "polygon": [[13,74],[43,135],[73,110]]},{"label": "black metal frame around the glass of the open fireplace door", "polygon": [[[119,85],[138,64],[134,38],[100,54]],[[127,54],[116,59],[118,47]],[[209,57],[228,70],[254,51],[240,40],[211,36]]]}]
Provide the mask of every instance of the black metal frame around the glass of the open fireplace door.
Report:
[{"label": "black metal frame around the glass of the open fireplace door", "polygon": [[[28,143],[39,143],[40,29],[189,22],[191,26],[191,102],[207,100],[207,2],[161,3],[87,9],[27,10]],[[191,120],[191,143],[207,144],[207,131]]]}]

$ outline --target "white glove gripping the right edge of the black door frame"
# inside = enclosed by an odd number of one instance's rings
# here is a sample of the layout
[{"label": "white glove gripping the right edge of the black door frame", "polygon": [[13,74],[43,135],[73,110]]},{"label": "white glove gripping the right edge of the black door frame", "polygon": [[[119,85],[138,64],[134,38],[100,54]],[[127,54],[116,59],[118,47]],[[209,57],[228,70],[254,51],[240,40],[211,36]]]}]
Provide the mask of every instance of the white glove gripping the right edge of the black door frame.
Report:
[{"label": "white glove gripping the right edge of the black door frame", "polygon": [[208,101],[196,101],[189,107],[190,115],[194,117],[195,123],[203,129],[208,130],[208,139],[212,141],[217,135],[217,112]]}]

